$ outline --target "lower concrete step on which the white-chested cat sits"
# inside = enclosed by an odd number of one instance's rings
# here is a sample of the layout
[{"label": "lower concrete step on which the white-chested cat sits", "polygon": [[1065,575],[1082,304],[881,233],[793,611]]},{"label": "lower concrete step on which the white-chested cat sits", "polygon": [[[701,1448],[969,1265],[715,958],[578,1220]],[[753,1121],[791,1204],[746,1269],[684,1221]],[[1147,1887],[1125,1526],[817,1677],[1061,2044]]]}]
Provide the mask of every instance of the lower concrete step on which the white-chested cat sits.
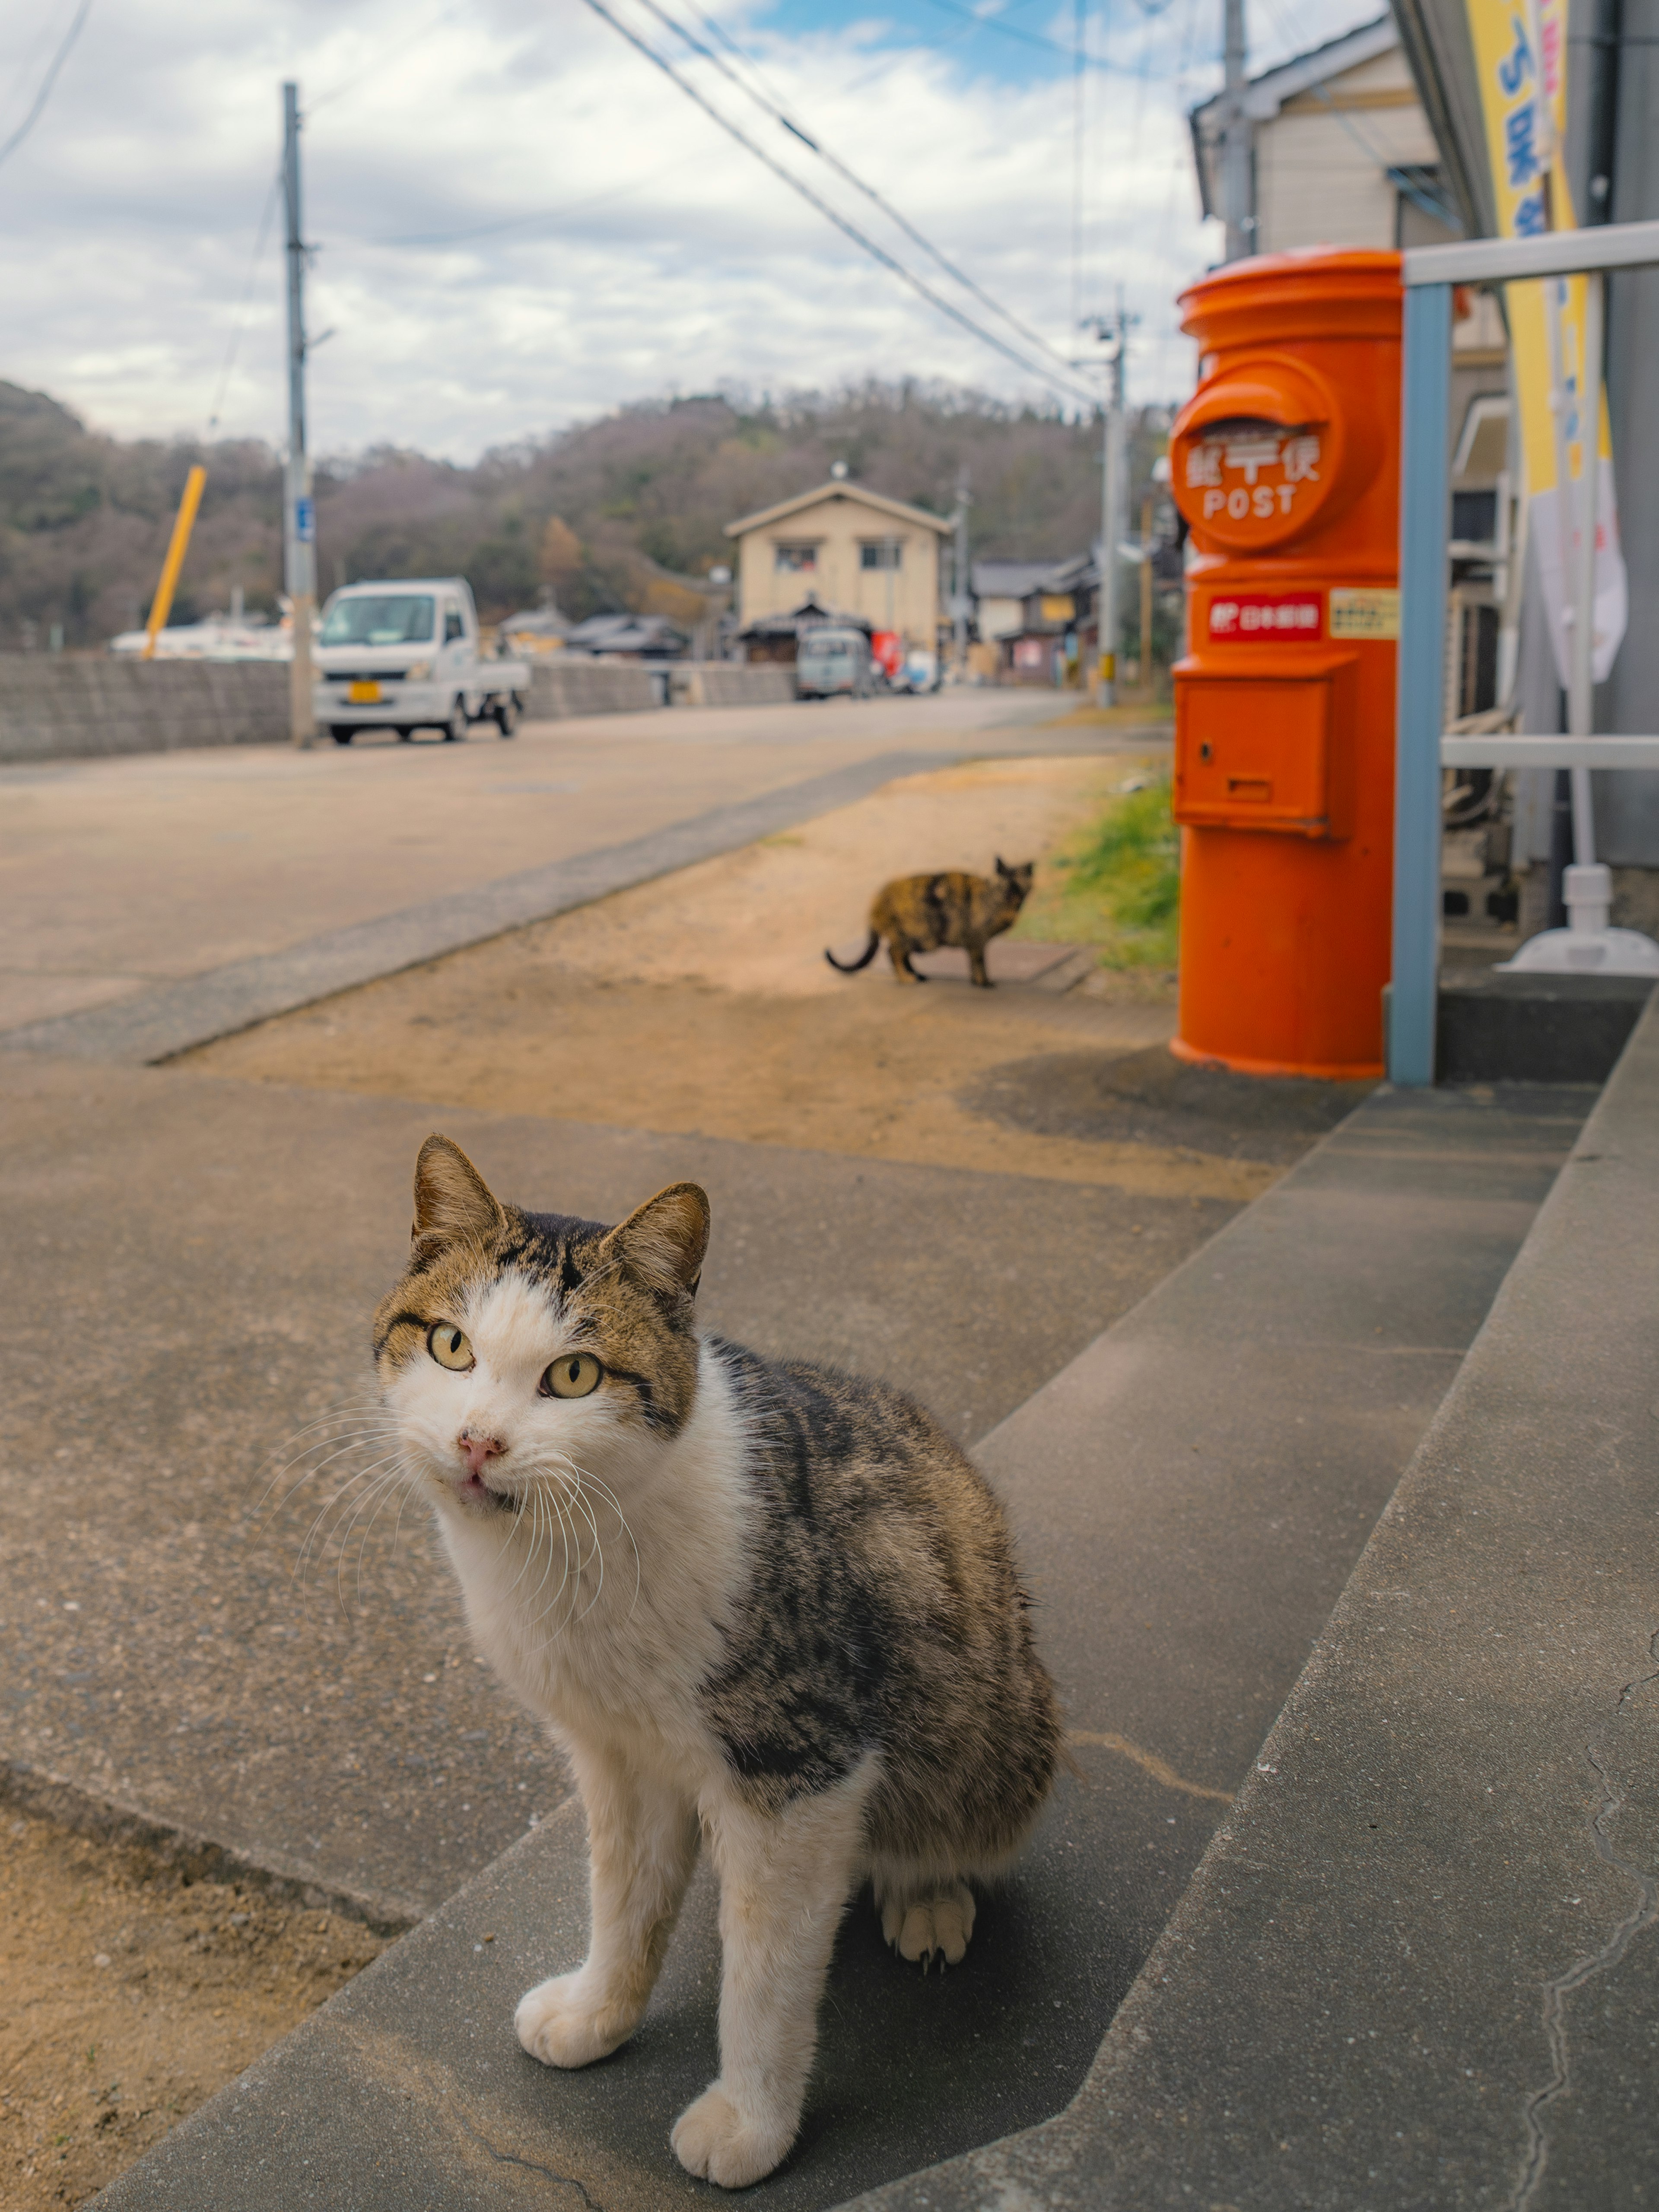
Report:
[{"label": "lower concrete step on which the white-chested cat sits", "polygon": [[[816,2212],[1068,2101],[1584,1104],[1378,1095],[984,1440],[1084,1778],[958,1973],[900,1969],[854,1905],[805,2132],[757,2199]],[[195,2212],[228,2177],[248,2205],[376,2212],[706,2194],[668,2150],[714,2070],[706,1882],[628,2051],[551,2075],[513,2042],[522,1986],[582,1955],[582,1867],[568,1807],[102,2201]]]}]

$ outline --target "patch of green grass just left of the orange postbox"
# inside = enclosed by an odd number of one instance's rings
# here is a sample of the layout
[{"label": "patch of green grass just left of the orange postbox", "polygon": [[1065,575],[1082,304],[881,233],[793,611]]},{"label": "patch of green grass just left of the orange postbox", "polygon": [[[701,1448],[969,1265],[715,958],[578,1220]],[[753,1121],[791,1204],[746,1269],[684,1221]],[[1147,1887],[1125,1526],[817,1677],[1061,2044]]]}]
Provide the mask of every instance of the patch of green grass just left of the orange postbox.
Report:
[{"label": "patch of green grass just left of the orange postbox", "polygon": [[1117,792],[1053,858],[1018,933],[1099,945],[1113,969],[1172,969],[1181,905],[1181,845],[1168,776]]}]

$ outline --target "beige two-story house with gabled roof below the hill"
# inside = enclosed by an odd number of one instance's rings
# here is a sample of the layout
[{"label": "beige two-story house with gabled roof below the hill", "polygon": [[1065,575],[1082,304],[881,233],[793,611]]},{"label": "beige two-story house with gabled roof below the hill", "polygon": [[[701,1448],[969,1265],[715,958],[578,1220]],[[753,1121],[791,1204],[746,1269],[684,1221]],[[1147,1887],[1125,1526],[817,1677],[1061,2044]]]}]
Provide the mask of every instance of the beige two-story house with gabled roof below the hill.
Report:
[{"label": "beige two-story house with gabled roof below the hill", "polygon": [[748,630],[803,602],[938,644],[942,515],[836,478],[726,524],[737,540],[737,619]]}]

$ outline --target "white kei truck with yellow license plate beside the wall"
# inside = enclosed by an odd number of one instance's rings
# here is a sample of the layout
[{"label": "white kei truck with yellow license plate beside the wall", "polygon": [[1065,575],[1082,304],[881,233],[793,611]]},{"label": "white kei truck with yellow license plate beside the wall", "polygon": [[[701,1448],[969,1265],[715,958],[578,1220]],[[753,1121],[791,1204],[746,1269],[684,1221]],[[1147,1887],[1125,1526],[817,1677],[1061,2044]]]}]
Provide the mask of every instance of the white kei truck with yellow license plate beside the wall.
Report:
[{"label": "white kei truck with yellow license plate beside the wall", "polygon": [[312,648],[316,721],[336,745],[358,730],[438,730],[458,743],[469,723],[518,730],[531,672],[478,650],[478,608],[465,575],[347,584],[330,595]]}]

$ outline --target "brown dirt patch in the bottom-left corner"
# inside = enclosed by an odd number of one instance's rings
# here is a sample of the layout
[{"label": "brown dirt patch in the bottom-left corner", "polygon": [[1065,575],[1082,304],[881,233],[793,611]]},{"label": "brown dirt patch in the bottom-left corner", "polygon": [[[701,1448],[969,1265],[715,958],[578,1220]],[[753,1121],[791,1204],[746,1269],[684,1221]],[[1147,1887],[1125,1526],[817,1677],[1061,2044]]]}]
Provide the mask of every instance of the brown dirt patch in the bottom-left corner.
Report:
[{"label": "brown dirt patch in the bottom-left corner", "polygon": [[0,2203],[80,2205],[387,1938],[0,1814]]}]

